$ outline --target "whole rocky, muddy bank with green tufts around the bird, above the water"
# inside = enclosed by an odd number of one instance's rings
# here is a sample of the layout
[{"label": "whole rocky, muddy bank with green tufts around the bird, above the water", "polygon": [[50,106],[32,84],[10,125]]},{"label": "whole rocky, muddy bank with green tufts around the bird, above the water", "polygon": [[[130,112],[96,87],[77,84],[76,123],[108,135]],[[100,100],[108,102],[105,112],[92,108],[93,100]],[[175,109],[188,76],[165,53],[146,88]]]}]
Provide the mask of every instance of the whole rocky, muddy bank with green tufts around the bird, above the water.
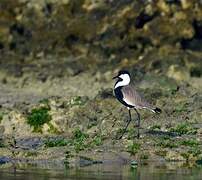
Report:
[{"label": "whole rocky, muddy bank with green tufts around the bird, above the water", "polygon": [[[201,163],[201,2],[18,0],[0,9],[2,162]],[[112,92],[120,69],[162,109],[140,111],[140,139],[135,121],[118,139],[128,119]]]}]

